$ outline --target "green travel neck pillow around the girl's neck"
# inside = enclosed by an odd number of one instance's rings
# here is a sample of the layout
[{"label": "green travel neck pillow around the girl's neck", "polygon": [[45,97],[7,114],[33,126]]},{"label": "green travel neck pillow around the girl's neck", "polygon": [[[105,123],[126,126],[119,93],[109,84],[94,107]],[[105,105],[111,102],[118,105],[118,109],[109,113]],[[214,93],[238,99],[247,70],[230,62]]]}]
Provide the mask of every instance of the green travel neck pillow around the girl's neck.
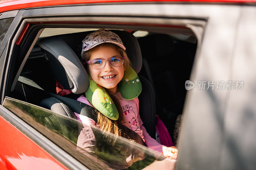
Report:
[{"label": "green travel neck pillow around the girl's neck", "polygon": [[[103,115],[112,120],[117,120],[119,117],[118,111],[106,90],[93,81],[90,74],[88,74],[88,77],[90,85],[87,91],[84,92],[87,100]],[[117,86],[121,96],[126,100],[138,97],[142,89],[139,76],[131,67],[124,71],[124,77]]]}]

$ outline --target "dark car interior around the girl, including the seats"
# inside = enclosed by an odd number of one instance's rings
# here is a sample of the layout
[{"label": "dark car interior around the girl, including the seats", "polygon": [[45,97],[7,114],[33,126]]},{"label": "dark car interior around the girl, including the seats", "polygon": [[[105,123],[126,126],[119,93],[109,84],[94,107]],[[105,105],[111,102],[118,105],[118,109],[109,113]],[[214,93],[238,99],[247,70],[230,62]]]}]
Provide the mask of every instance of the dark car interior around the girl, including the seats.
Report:
[{"label": "dark car interior around the girl, including the seats", "polygon": [[[10,97],[50,110],[53,103],[64,103],[68,111],[60,113],[59,109],[52,110],[70,118],[75,118],[73,112],[88,114],[91,108],[85,105],[76,107],[76,99],[84,93],[83,89],[86,87],[76,92],[73,90],[72,93],[65,93],[66,90],[74,89],[74,81],[67,73],[66,68],[70,65],[66,67],[65,63],[60,63],[56,59],[58,58],[56,50],[60,53],[69,50],[70,55],[66,58],[74,63],[72,58],[76,57],[76,61],[79,60],[81,42],[90,32],[92,31],[39,38],[29,54]],[[189,80],[194,62],[197,46],[195,36],[190,35],[194,40],[187,41],[180,39],[179,36],[163,33],[149,32],[146,36],[135,38],[132,33],[136,31],[130,33],[113,30],[113,32],[117,33],[127,46],[132,66],[142,81],[142,93],[139,96],[140,116],[145,128],[151,137],[155,138],[154,121],[155,115],[158,115],[167,127],[173,143],[176,144],[175,124],[177,117],[182,114],[186,96],[184,84]],[[63,46],[56,46],[56,43],[52,43],[53,39],[63,43]],[[46,46],[50,49],[40,47],[38,41],[49,43],[49,46]],[[134,45],[134,42],[137,44]],[[73,54],[74,56],[71,56]],[[78,65],[75,64],[75,67]],[[80,77],[77,79],[86,86],[87,80],[83,81]],[[77,89],[81,88],[77,87]],[[60,94],[61,91],[64,92]],[[45,119],[47,127],[54,126],[51,123],[52,119],[52,117]],[[63,134],[65,135],[65,131]]]}]

